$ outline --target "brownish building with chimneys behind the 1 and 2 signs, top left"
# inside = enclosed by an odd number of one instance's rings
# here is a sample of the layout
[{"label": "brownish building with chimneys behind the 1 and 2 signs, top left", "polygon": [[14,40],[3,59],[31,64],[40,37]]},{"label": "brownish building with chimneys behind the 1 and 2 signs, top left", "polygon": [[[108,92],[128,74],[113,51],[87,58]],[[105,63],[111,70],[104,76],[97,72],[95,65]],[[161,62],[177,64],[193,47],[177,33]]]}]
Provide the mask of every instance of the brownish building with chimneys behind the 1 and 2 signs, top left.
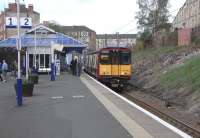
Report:
[{"label": "brownish building with chimneys behind the 1 and 2 signs, top left", "polygon": [[[6,38],[17,35],[17,27],[6,27],[8,21],[10,22],[12,19],[16,19],[17,17],[17,4],[9,3],[8,8],[5,8],[4,11],[0,14],[0,40],[4,40]],[[20,4],[20,18],[23,18],[25,24],[29,24],[27,27],[21,27],[21,33],[25,33],[30,30],[34,26],[40,23],[40,13],[34,11],[34,6],[29,4],[26,7],[25,4]],[[11,23],[15,23],[16,21],[12,21]]]}]

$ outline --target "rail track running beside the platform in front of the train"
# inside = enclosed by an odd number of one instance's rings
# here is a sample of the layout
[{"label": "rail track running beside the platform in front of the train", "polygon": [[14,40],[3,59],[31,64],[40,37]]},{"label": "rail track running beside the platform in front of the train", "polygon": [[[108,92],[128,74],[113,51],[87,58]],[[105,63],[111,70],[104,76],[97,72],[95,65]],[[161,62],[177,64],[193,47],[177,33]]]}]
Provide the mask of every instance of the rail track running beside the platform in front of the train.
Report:
[{"label": "rail track running beside the platform in front of the train", "polygon": [[[136,87],[136,89],[138,90],[138,88]],[[173,126],[179,128],[180,130],[182,130],[183,132],[189,134],[190,136],[192,136],[193,138],[200,138],[200,130],[192,127],[189,124],[186,124],[183,121],[180,121],[179,119],[166,114],[160,110],[158,110],[157,108],[141,101],[138,100],[137,98],[133,97],[132,95],[130,95],[129,93],[123,92],[120,93],[122,96],[124,96],[125,98],[129,99],[130,101],[136,103],[137,105],[141,106],[142,108],[148,110],[149,112],[153,113],[154,115],[158,116],[159,118],[165,120],[166,122],[172,124]]]}]

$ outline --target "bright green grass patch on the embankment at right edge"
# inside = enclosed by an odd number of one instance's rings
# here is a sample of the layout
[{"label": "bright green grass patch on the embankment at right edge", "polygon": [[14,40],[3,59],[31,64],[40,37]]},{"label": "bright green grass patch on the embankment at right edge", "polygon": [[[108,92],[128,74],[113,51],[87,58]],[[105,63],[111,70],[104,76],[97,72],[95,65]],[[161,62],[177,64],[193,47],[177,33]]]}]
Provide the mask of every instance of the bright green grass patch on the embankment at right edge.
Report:
[{"label": "bright green grass patch on the embankment at right edge", "polygon": [[160,76],[164,88],[191,87],[193,90],[200,88],[200,56],[194,56],[175,69]]}]

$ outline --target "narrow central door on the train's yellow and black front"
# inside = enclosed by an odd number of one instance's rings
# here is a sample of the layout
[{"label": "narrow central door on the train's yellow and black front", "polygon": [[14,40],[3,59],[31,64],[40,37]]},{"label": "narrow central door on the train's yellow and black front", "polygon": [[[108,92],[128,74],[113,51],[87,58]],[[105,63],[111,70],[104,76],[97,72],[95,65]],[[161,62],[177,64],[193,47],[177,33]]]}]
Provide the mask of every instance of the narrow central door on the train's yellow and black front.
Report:
[{"label": "narrow central door on the train's yellow and black front", "polygon": [[111,57],[111,75],[112,76],[119,76],[119,51],[118,50],[112,50],[110,51],[110,57]]}]

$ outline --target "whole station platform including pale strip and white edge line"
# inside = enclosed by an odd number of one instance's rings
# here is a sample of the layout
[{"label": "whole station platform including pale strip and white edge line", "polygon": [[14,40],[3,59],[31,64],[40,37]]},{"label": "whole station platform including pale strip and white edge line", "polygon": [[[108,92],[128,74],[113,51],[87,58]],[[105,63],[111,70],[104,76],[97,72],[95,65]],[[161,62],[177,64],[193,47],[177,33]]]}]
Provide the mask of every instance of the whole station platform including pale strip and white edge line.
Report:
[{"label": "whole station platform including pale strip and white edge line", "polygon": [[86,74],[40,76],[34,96],[16,106],[14,81],[0,83],[1,138],[181,138],[189,137]]}]

